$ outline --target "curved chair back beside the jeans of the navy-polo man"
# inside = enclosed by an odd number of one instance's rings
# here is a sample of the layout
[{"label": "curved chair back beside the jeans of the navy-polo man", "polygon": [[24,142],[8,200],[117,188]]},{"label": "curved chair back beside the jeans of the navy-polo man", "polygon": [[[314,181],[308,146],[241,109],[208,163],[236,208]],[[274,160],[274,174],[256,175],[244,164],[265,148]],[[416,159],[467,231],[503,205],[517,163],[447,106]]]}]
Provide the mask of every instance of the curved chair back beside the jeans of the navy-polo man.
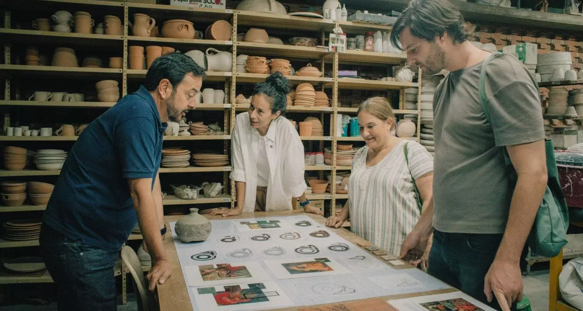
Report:
[{"label": "curved chair back beside the jeans of the navy-polo man", "polygon": [[129,270],[134,278],[134,292],[136,293],[136,300],[138,301],[138,310],[141,311],[156,311],[158,304],[156,299],[147,289],[146,279],[142,271],[142,264],[138,259],[138,255],[131,247],[125,245],[121,249],[121,260],[124,261],[125,268]]}]

